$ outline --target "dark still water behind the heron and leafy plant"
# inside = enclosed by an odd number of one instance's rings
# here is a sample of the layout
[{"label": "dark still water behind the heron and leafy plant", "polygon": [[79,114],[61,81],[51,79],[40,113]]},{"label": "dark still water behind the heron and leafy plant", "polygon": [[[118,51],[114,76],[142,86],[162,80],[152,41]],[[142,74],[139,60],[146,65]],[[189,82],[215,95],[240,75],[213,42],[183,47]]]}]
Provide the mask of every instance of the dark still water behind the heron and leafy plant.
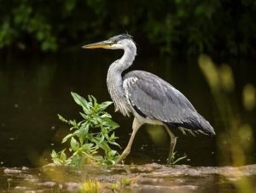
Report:
[{"label": "dark still water behind the heron and leafy plant", "polygon": [[[38,167],[51,162],[49,152],[63,148],[61,139],[68,132],[67,125],[58,120],[57,113],[79,120],[79,106],[73,102],[70,92],[84,96],[93,94],[99,101],[110,100],[106,85],[108,66],[120,55],[111,50],[83,50],[55,57],[13,57],[10,61],[1,61],[0,166]],[[253,78],[255,65],[245,64],[233,64],[236,93],[231,96],[232,101],[241,101],[239,92],[246,82],[256,83]],[[184,62],[139,53],[131,69],[150,71],[171,82],[212,123],[217,137],[221,133],[221,120],[197,60]],[[239,102],[239,113],[255,126],[256,112],[243,111],[240,105]],[[116,135],[119,136],[119,144],[124,147],[131,133],[132,119],[114,113],[113,106],[108,111],[120,125]],[[180,163],[193,166],[219,164],[217,138],[174,133],[178,136],[178,156],[187,155],[187,159]],[[137,133],[126,163],[166,164],[169,143],[164,129],[143,126]],[[250,157],[247,163],[256,161],[255,148],[247,157]]]}]

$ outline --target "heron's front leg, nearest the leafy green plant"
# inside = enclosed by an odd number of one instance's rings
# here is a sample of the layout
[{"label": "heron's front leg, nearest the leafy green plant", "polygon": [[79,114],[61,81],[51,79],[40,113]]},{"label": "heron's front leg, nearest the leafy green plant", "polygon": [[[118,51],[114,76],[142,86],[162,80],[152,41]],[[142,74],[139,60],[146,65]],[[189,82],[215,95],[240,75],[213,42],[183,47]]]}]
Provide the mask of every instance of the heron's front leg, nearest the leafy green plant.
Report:
[{"label": "heron's front leg, nearest the leafy green plant", "polygon": [[139,122],[137,120],[136,117],[134,117],[134,120],[133,120],[133,123],[132,123],[132,133],[131,133],[131,138],[129,139],[129,143],[128,145],[126,146],[125,150],[123,151],[122,155],[119,156],[119,159],[117,160],[116,163],[119,163],[121,162],[122,160],[125,159],[126,156],[129,155],[130,151],[131,151],[131,145],[132,145],[132,142],[133,142],[133,139],[137,133],[137,130],[142,126],[143,124],[141,122]]}]

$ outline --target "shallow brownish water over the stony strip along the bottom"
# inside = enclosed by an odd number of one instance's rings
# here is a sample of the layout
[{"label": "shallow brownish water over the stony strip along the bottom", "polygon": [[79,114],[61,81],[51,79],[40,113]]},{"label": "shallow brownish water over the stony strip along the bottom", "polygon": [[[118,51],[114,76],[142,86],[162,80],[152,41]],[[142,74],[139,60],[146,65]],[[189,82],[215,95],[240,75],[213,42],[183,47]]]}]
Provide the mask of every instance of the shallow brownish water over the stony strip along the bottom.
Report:
[{"label": "shallow brownish water over the stony strip along the bottom", "polygon": [[113,184],[122,179],[129,183],[118,192],[253,192],[256,188],[256,165],[244,167],[166,167],[118,165],[82,168],[48,165],[39,168],[0,168],[1,191],[72,192],[92,179],[98,181],[102,192],[113,192]]}]

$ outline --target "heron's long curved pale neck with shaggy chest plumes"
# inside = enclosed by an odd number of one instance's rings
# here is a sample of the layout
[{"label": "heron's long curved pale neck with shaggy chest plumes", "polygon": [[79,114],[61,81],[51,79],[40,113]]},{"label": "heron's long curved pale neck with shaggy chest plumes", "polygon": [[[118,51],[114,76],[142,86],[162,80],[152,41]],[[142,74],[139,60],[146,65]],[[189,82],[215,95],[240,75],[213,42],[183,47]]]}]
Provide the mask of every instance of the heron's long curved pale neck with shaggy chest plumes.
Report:
[{"label": "heron's long curved pale neck with shaggy chest plumes", "polygon": [[134,43],[124,48],[125,52],[121,59],[114,61],[108,69],[108,92],[113,99],[116,111],[121,111],[124,115],[129,115],[129,112],[124,106],[125,92],[123,88],[122,72],[132,65],[136,56],[137,48]]}]

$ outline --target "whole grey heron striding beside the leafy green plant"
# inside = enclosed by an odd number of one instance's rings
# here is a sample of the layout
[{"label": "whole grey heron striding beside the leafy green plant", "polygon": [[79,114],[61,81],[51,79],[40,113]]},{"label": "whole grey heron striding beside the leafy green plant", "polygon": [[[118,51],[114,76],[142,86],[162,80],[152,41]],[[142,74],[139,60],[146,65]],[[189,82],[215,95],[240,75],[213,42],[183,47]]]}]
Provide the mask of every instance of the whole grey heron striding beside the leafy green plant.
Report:
[{"label": "whole grey heron striding beside the leafy green plant", "polygon": [[115,111],[120,111],[124,116],[134,116],[131,138],[117,163],[129,155],[137,130],[144,123],[166,128],[171,139],[169,164],[177,141],[171,129],[215,135],[210,123],[170,83],[147,71],[130,71],[123,76],[122,72],[132,65],[137,55],[136,44],[130,35],[121,34],[99,43],[86,44],[82,48],[124,50],[123,56],[110,65],[107,77],[108,92],[113,99]]}]

